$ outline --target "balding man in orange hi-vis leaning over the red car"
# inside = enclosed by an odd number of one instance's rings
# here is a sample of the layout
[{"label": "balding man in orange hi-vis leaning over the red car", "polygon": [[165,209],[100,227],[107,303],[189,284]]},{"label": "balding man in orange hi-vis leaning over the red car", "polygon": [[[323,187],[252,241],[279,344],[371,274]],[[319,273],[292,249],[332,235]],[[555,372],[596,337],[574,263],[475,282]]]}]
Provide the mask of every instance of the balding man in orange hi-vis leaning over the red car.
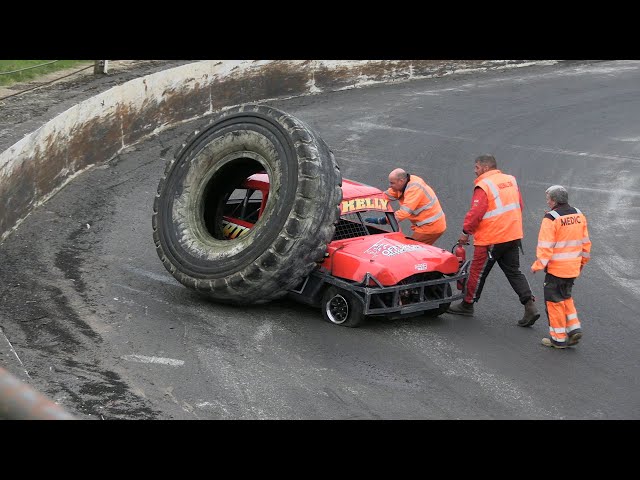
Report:
[{"label": "balding man in orange hi-vis leaning over the red car", "polygon": [[[396,220],[411,222],[411,238],[433,245],[447,229],[447,220],[433,188],[417,175],[402,168],[389,173],[389,188],[385,192],[389,200],[397,200],[400,207],[394,212]],[[365,218],[369,223],[387,223],[386,217]]]}]

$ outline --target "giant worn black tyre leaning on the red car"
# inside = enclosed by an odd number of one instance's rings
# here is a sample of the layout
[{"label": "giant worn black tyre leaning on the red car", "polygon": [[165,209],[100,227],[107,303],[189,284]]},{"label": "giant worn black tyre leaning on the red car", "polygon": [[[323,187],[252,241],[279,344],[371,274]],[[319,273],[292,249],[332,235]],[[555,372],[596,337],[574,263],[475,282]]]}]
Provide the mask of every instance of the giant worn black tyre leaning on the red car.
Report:
[{"label": "giant worn black tyre leaning on the red car", "polygon": [[[225,238],[225,202],[259,172],[270,183],[261,218],[246,235]],[[153,205],[156,251],[180,283],[215,301],[280,298],[323,260],[341,185],[333,153],[305,123],[265,105],[231,108],[167,163]]]}]

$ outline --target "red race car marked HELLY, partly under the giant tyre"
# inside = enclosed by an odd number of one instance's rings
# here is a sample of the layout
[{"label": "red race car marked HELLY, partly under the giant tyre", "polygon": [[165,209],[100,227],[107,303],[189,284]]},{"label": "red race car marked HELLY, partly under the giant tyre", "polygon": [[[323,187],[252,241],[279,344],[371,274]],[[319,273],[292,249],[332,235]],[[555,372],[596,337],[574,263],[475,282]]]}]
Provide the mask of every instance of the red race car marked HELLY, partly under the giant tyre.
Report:
[{"label": "red race car marked HELLY, partly under the giant tyre", "polygon": [[[288,292],[290,298],[319,306],[325,320],[347,327],[375,316],[437,316],[463,298],[469,260],[405,237],[391,202],[378,188],[343,179],[342,194],[340,219],[324,261]],[[236,188],[223,211],[224,237],[249,232],[268,195],[265,173],[251,175]],[[386,225],[366,220],[380,216],[387,217]]]}]

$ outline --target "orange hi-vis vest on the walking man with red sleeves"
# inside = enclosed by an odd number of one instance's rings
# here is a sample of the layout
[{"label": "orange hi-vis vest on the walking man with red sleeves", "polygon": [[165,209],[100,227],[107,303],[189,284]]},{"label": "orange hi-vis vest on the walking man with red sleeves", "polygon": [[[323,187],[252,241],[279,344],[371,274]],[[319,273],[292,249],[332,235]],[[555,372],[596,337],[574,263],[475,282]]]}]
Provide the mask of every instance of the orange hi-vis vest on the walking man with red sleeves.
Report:
[{"label": "orange hi-vis vest on the walking man with red sleeves", "polygon": [[474,245],[493,245],[522,238],[522,206],[515,177],[500,170],[489,170],[474,183],[484,190],[489,202],[487,213],[473,233]]}]

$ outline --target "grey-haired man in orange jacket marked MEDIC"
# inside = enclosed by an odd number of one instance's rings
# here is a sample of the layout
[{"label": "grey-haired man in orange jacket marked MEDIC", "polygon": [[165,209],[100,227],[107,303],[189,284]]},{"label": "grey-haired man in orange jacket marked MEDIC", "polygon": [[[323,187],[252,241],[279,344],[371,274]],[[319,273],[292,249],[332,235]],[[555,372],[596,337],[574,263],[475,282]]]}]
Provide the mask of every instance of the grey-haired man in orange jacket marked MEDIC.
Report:
[{"label": "grey-haired man in orange jacket marked MEDIC", "polygon": [[538,234],[533,273],[544,270],[544,301],[549,319],[549,337],[542,344],[567,348],[582,338],[582,326],[571,298],[573,282],[591,258],[587,218],[569,205],[569,194],[562,185],[545,191],[550,210]]}]

